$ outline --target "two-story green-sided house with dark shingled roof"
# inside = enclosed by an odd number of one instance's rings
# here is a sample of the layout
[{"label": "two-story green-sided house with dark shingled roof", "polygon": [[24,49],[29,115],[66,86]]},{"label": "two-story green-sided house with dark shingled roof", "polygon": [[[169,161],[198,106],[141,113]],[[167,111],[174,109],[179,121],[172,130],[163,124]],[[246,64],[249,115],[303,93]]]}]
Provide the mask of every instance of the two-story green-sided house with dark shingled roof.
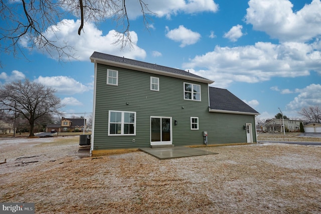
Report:
[{"label": "two-story green-sided house with dark shingled roof", "polygon": [[214,81],[94,52],[91,153],[153,146],[256,142],[259,115]]}]

